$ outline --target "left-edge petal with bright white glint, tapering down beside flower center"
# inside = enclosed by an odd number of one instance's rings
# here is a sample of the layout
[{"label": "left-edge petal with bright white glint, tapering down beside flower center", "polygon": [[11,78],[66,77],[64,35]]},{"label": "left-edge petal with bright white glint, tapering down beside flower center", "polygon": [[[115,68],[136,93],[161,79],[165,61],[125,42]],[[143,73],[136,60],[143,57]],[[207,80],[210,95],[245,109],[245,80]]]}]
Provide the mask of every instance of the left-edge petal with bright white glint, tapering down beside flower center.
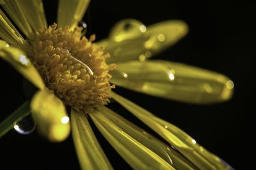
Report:
[{"label": "left-edge petal with bright white glint, tapering down beside flower center", "polygon": [[9,62],[20,74],[38,87],[38,89],[45,88],[40,74],[38,74],[28,57],[18,48],[9,46],[6,42],[0,40],[0,57]]}]

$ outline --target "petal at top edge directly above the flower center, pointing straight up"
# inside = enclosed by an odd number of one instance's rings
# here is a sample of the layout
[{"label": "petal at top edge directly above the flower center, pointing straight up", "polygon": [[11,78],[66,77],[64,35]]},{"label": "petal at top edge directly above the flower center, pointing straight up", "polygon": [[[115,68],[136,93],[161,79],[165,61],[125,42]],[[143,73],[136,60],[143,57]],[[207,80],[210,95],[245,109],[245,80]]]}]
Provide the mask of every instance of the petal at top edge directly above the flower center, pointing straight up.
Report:
[{"label": "petal at top edge directly above the flower center, pointing straight up", "polygon": [[88,7],[90,0],[61,0],[58,4],[59,27],[70,26],[71,29],[77,26]]}]

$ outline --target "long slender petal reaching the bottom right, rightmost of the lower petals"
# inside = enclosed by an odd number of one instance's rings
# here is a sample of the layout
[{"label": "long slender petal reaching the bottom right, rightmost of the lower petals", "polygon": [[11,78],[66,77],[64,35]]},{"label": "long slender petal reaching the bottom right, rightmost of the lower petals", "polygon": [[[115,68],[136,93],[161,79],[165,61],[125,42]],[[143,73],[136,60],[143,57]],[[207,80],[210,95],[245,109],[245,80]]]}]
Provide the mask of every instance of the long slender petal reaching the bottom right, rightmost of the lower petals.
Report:
[{"label": "long slender petal reaching the bottom right, rightmost of the lower petals", "polygon": [[148,127],[162,136],[168,143],[173,145],[180,153],[187,157],[193,164],[200,169],[227,169],[216,155],[207,152],[202,146],[188,134],[180,130],[178,127],[157,118],[149,111],[132,103],[114,92],[111,92],[113,98],[118,101],[124,108],[144,122]]}]

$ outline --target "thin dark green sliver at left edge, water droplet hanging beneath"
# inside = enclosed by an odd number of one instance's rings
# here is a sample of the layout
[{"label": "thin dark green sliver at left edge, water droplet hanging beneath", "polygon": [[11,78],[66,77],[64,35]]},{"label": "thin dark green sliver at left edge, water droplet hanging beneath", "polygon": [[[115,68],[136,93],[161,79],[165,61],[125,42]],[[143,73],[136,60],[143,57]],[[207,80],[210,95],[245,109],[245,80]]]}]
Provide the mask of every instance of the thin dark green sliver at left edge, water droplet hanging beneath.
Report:
[{"label": "thin dark green sliver at left edge, water droplet hanging beneath", "polygon": [[13,111],[3,122],[0,122],[0,138],[13,128],[13,124],[30,113],[29,102],[22,104],[17,110]]}]

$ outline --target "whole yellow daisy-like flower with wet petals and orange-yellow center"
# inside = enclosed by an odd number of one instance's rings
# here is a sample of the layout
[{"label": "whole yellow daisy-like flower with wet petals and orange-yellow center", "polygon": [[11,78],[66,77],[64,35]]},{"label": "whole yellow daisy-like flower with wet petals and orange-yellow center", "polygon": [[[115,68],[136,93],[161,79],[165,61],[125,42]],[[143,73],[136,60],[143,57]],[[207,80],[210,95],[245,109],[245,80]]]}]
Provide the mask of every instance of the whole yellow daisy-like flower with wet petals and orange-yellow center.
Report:
[{"label": "whole yellow daisy-like flower with wet petals and orange-yellow center", "polygon": [[[216,155],[175,125],[112,91],[118,85],[198,104],[229,99],[234,84],[227,76],[175,62],[148,60],[179,41],[188,32],[188,26],[179,20],[149,27],[137,20],[122,20],[108,39],[93,43],[95,36],[88,40],[77,27],[88,3],[60,1],[58,26],[47,28],[41,0],[1,1],[26,36],[24,39],[0,10],[0,37],[4,40],[0,40],[1,59],[12,64],[38,91],[31,101],[1,122],[0,136],[32,113],[42,136],[50,141],[63,141],[70,134],[71,122],[81,168],[113,169],[93,134],[88,122],[91,118],[134,169],[228,169]],[[110,97],[175,150],[104,106]],[[72,108],[71,121],[65,106]]]}]

